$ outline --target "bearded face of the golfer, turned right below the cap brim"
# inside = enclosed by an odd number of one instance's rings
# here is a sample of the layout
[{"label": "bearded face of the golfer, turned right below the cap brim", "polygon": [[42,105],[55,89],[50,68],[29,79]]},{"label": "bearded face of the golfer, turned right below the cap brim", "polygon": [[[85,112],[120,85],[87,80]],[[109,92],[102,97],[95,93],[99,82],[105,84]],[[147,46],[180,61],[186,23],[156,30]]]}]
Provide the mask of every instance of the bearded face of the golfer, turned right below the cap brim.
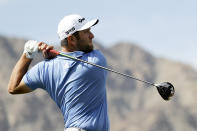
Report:
[{"label": "bearded face of the golfer, turned right below the cap brim", "polygon": [[80,51],[85,53],[91,52],[94,49],[92,39],[94,35],[90,31],[90,28],[79,31],[79,39],[77,40],[77,47]]}]

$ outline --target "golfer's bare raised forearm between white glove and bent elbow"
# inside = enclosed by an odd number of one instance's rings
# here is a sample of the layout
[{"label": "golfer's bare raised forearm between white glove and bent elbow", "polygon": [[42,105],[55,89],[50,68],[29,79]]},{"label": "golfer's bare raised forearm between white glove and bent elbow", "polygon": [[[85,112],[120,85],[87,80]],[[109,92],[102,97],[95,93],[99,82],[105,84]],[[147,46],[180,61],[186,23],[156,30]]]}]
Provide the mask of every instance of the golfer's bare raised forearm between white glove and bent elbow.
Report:
[{"label": "golfer's bare raised forearm between white glove and bent elbow", "polygon": [[12,74],[10,76],[10,81],[8,83],[8,91],[12,93],[20,84],[23,76],[27,72],[29,65],[31,64],[31,59],[26,58],[25,54],[21,56],[15,65]]}]

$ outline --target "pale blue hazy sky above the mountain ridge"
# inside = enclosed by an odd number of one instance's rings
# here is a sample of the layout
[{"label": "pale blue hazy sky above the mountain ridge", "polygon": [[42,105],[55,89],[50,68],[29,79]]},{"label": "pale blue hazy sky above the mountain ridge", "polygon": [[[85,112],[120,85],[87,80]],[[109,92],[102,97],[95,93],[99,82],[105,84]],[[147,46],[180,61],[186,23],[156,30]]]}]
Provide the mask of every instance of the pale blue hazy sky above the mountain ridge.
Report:
[{"label": "pale blue hazy sky above the mountain ridge", "polygon": [[131,42],[197,69],[196,7],[196,0],[0,0],[0,35],[59,43],[59,21],[78,13],[100,19],[92,31],[106,47]]}]

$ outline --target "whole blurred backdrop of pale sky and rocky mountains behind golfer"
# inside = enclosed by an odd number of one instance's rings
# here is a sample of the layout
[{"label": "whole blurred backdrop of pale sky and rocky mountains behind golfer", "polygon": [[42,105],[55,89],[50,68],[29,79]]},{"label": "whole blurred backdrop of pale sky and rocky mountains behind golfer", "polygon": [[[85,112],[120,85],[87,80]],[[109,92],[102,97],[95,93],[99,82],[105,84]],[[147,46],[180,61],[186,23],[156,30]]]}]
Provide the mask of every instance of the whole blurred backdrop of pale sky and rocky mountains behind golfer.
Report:
[{"label": "whole blurred backdrop of pale sky and rocky mountains behind golfer", "polygon": [[59,46],[57,25],[75,13],[100,20],[92,28],[95,47],[110,67],[176,88],[165,102],[154,88],[110,73],[112,131],[197,130],[196,6],[195,0],[0,0],[0,131],[63,130],[60,111],[45,92],[11,96],[7,83],[25,41]]}]

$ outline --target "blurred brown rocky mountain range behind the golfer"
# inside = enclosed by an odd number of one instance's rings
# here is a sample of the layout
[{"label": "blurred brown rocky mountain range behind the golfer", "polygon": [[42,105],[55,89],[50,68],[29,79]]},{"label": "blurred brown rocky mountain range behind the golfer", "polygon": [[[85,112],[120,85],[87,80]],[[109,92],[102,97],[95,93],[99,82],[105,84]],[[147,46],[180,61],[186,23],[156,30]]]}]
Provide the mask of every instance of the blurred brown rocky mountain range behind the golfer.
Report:
[{"label": "blurred brown rocky mountain range behind the golfer", "polygon": [[[15,96],[7,92],[9,76],[25,41],[0,36],[0,131],[63,131],[60,110],[46,92],[37,90]],[[104,53],[110,68],[150,82],[169,81],[176,89],[175,97],[166,102],[154,87],[109,73],[111,131],[197,130],[196,70],[155,57],[132,43],[117,43],[110,48],[95,46]]]}]

